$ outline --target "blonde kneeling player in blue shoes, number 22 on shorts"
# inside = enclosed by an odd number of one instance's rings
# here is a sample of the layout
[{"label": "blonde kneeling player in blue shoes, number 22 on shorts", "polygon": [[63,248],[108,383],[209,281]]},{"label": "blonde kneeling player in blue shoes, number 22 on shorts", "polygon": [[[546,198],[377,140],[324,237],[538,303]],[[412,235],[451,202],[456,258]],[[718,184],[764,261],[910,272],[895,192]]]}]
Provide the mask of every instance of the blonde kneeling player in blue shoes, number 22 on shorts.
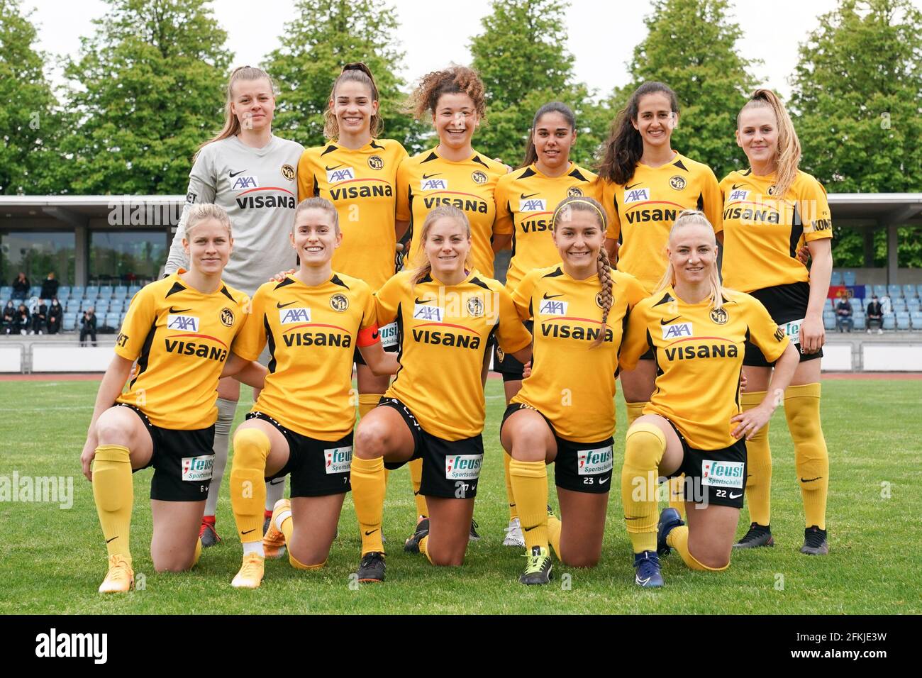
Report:
[{"label": "blonde kneeling player in blue shoes, number 22 on shorts", "polygon": [[[624,519],[635,582],[660,587],[659,555],[719,571],[730,563],[746,487],[746,443],[772,417],[798,365],[798,352],[754,297],[717,277],[714,229],[702,212],[680,213],[669,232],[668,268],[653,296],[629,318],[621,367],[654,351],[656,388],[630,429],[621,469]],[[740,413],[739,375],[747,339],[773,363],[765,398]],[[685,474],[688,526],[667,508],[656,529],[656,482]]]}]

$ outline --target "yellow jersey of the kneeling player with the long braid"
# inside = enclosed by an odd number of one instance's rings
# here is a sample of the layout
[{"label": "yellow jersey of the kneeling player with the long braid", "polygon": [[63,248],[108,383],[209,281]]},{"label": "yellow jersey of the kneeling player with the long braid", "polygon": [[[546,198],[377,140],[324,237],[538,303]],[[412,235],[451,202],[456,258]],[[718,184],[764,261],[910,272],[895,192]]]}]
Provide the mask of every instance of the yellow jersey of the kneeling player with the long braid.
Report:
[{"label": "yellow jersey of the kneeling player with the long braid", "polygon": [[533,270],[513,292],[522,320],[534,318],[531,375],[512,399],[540,411],[561,438],[597,443],[615,432],[615,373],[628,313],[646,297],[633,276],[611,272],[614,301],[605,339],[598,276],[574,280],[561,266]]}]

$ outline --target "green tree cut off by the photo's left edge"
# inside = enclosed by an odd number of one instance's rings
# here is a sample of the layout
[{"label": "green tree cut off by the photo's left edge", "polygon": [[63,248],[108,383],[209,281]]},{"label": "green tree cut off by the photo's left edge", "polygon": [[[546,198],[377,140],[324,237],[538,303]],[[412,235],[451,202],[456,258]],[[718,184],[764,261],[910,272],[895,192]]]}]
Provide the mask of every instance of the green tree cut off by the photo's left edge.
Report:
[{"label": "green tree cut off by the photo's left edge", "polygon": [[38,193],[55,136],[56,101],[35,27],[18,0],[0,0],[0,194]]}]

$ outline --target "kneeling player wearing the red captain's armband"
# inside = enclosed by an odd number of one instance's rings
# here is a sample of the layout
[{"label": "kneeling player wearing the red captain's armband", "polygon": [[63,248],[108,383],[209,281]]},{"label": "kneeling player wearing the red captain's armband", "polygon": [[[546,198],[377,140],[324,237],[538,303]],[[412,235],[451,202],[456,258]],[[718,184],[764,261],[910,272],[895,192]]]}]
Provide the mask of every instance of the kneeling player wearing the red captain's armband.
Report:
[{"label": "kneeling player wearing the red captain's armband", "polygon": [[[262,285],[253,315],[234,345],[255,359],[269,345],[269,374],[246,422],[233,438],[231,506],[243,543],[243,564],[231,585],[256,589],[267,557],[288,547],[293,567],[326,564],[349,492],[352,356],[358,346],[376,375],[396,372],[396,355],[378,339],[372,290],[363,280],[333,271],[342,242],[333,204],[301,201],[290,233],[301,268]],[[266,480],[291,475],[291,500],[276,503],[265,540]]]}]

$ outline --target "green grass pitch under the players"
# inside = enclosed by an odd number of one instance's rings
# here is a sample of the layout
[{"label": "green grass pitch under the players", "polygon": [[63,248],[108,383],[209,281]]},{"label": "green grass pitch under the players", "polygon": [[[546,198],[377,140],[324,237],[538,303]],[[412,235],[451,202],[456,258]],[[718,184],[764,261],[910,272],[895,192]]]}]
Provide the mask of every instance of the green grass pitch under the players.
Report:
[{"label": "green grass pitch under the players", "polygon": [[[225,541],[207,549],[194,571],[154,573],[149,556],[150,473],[135,475],[131,534],[135,570],[145,588],[124,596],[96,592],[105,574],[105,545],[79,455],[97,383],[16,381],[0,387],[0,476],[73,476],[69,510],[42,503],[0,503],[0,613],[920,613],[918,519],[914,488],[922,442],[916,436],[922,381],[830,380],[823,385],[823,428],[829,444],[830,554],[798,553],[803,519],[793,448],[784,413],[774,417],[773,549],[734,553],[722,574],[691,572],[678,555],[664,563],[666,588],[633,585],[630,542],[612,482],[601,563],[592,570],[555,560],[548,587],[519,585],[522,551],[502,546],[507,522],[498,428],[502,382],[487,385],[487,457],[475,517],[483,539],[471,543],[460,568],[436,568],[403,553],[414,525],[407,470],[391,474],[384,510],[390,553],[383,586],[351,587],[358,565],[358,526],[346,500],[329,564],[293,570],[288,559],[266,564],[256,591],[231,589],[241,547],[235,541],[227,478],[218,527]],[[244,391],[248,389],[244,388]],[[238,422],[249,402],[244,397]],[[625,421],[618,401],[619,422]],[[615,435],[615,465],[623,429]],[[228,467],[230,475],[230,466]],[[551,488],[552,506],[557,506]],[[739,535],[749,525],[743,509]]]}]

